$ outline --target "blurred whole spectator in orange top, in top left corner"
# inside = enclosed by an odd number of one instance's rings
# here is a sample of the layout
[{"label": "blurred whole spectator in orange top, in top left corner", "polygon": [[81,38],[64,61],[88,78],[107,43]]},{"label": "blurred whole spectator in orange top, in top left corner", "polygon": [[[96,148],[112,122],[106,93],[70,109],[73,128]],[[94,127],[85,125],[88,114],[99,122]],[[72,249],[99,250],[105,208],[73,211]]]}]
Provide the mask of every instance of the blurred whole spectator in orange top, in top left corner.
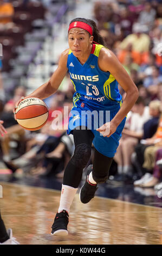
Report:
[{"label": "blurred whole spectator in orange top, in top left corner", "polygon": [[11,3],[0,0],[0,30],[10,28],[14,25],[12,17],[14,15],[14,7]]}]

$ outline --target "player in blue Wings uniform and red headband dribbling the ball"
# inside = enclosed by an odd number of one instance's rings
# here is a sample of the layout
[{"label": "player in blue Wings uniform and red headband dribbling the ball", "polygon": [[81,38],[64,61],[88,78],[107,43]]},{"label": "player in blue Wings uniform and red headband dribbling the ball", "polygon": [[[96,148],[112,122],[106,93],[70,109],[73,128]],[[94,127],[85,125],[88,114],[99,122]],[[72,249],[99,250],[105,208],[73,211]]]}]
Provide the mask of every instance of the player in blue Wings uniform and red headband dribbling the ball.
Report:
[{"label": "player in blue Wings uniform and red headband dribbling the ball", "polygon": [[[51,231],[51,234],[61,236],[68,234],[70,205],[80,184],[82,170],[88,163],[92,142],[94,162],[87,168],[87,179],[80,191],[83,204],[94,197],[98,184],[106,181],[126,115],[138,99],[137,87],[115,54],[103,46],[94,21],[82,18],[72,20],[68,42],[69,49],[62,52],[58,68],[50,80],[28,96],[45,99],[54,94],[67,71],[76,90],[68,126],[68,134],[74,135],[75,151],[64,171],[60,206]],[[123,103],[118,83],[126,92]],[[87,115],[83,120],[82,111],[88,110],[96,111],[98,115],[102,111],[102,125],[94,127],[92,122],[90,127]],[[106,121],[106,111],[110,111],[109,121]]]}]

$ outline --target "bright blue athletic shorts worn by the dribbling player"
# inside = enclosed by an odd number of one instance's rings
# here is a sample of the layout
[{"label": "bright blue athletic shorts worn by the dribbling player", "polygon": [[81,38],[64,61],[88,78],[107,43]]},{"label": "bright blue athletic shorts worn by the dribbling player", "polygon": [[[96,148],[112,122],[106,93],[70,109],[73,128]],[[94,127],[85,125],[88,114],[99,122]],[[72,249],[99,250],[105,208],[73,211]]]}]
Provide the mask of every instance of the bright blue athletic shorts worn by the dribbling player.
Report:
[{"label": "bright blue athletic shorts worn by the dribbling player", "polygon": [[116,131],[110,137],[103,137],[96,129],[111,121],[116,113],[118,113],[119,109],[120,103],[111,106],[109,109],[108,107],[93,109],[88,106],[86,102],[77,101],[77,104],[75,104],[69,114],[67,134],[73,134],[74,129],[80,129],[80,126],[84,126],[85,129],[91,130],[94,134],[93,145],[95,149],[102,155],[113,157],[119,146],[119,139],[121,138],[121,132],[125,126],[126,117],[121,121]]}]

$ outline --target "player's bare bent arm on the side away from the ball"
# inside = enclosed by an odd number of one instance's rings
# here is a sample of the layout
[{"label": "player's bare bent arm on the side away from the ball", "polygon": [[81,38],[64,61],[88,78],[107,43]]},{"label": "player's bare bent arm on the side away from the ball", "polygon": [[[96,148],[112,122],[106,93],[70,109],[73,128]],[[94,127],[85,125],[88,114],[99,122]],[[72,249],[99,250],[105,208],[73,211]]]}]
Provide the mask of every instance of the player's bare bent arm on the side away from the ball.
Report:
[{"label": "player's bare bent arm on the side away from the ball", "polygon": [[99,55],[99,68],[105,72],[111,72],[116,81],[118,81],[122,89],[126,92],[126,97],[120,110],[111,120],[112,131],[109,133],[109,136],[111,136],[121,121],[126,117],[127,113],[131,110],[135,101],[137,101],[139,93],[131,77],[129,77],[127,71],[112,51],[109,51],[106,48],[101,49]]}]

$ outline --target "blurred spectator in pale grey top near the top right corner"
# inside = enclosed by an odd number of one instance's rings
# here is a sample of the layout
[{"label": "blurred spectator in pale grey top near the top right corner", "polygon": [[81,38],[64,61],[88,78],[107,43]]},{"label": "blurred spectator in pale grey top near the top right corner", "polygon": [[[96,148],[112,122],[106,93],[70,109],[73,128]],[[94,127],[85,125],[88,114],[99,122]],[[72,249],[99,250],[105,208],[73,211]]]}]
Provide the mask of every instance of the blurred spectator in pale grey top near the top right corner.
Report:
[{"label": "blurred spectator in pale grey top near the top right corner", "polygon": [[149,32],[155,20],[156,11],[152,8],[151,3],[145,3],[145,9],[142,10],[138,17],[138,22],[141,26],[145,26],[145,32]]}]

